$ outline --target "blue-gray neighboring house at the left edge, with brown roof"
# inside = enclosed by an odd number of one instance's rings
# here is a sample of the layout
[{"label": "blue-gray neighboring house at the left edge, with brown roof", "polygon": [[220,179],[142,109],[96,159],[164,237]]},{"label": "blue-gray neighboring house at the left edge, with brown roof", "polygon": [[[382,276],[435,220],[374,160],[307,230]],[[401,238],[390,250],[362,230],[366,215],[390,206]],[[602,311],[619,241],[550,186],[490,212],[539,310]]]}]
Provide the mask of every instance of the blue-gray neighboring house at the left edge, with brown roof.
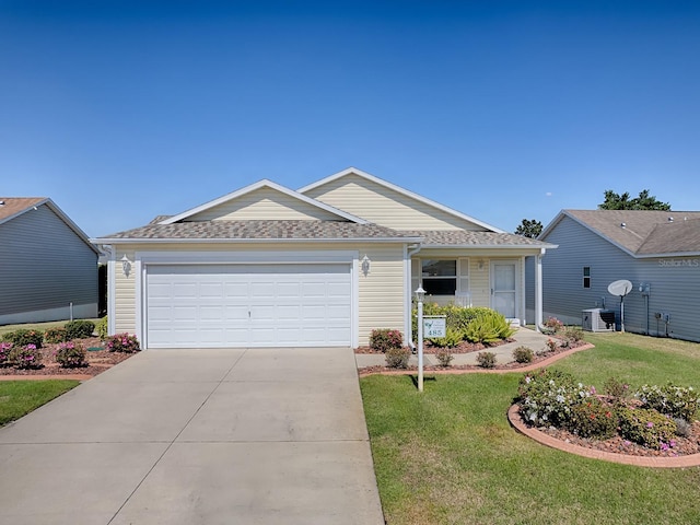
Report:
[{"label": "blue-gray neighboring house at the left edge, with brown roof", "polygon": [[0,325],[96,317],[97,255],[51,199],[0,197]]}]

